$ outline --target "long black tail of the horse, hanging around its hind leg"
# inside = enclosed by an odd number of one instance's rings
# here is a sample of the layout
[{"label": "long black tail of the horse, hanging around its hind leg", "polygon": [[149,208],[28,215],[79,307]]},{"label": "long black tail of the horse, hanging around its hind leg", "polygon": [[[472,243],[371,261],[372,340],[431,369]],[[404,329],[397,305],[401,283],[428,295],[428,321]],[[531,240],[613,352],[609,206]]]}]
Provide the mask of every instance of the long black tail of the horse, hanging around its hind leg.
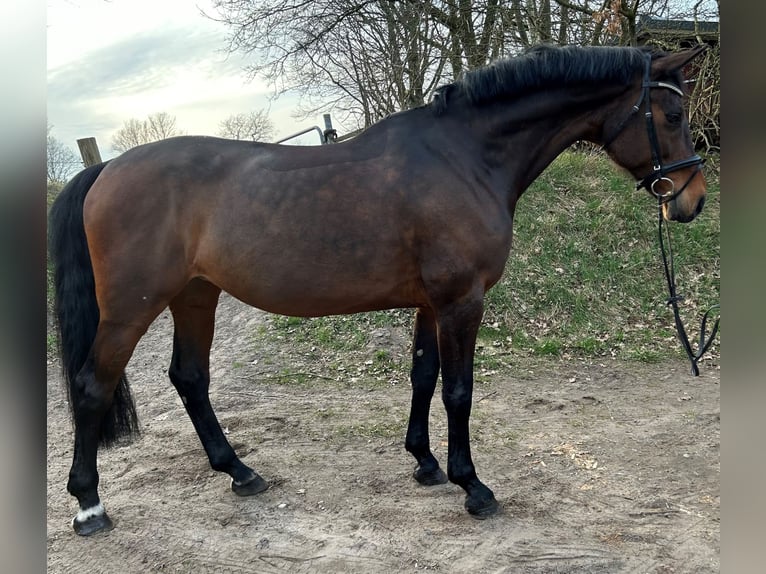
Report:
[{"label": "long black tail of the horse, hanging around its hind leg", "polygon": [[[83,225],[83,203],[105,163],[78,173],[64,187],[48,215],[48,250],[53,261],[58,346],[70,411],[78,402],[75,377],[85,364],[96,338],[99,310],[93,266]],[[138,417],[128,380],[123,373],[112,406],[101,425],[100,443],[111,446],[139,434]]]}]

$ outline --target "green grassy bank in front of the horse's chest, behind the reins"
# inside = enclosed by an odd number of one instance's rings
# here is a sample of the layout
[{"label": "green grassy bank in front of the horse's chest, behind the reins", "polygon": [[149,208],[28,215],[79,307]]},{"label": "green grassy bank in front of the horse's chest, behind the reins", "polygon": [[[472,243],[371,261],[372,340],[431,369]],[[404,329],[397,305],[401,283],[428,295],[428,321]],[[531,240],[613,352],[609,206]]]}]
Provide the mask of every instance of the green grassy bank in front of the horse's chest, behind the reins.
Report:
[{"label": "green grassy bank in front of the horse's chest, behind the reins", "polygon": [[[706,177],[700,217],[670,224],[689,331],[720,295],[719,180]],[[682,356],[665,305],[656,202],[633,189],[603,156],[565,152],[526,191],[485,313],[485,322],[511,333],[513,350],[646,362]]]}]

